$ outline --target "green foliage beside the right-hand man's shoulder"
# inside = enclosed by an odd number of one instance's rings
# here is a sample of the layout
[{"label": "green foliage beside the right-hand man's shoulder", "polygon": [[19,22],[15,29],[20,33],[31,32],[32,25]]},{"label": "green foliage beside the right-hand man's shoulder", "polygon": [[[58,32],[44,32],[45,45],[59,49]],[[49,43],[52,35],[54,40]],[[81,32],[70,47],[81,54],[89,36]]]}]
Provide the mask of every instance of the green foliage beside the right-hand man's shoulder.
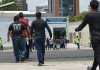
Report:
[{"label": "green foliage beside the right-hand man's shoulder", "polygon": [[70,16],[69,20],[70,22],[78,22],[84,19],[85,15],[87,14],[87,12],[83,12],[81,13],[79,16]]}]

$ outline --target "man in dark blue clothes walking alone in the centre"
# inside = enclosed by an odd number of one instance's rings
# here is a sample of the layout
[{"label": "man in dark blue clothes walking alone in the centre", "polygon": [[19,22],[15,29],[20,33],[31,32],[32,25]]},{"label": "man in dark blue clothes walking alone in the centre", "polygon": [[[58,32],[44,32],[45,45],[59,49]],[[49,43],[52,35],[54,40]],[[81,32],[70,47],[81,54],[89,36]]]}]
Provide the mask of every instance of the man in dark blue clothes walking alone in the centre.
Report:
[{"label": "man in dark blue clothes walking alone in the centre", "polygon": [[52,38],[51,30],[46,21],[41,18],[41,13],[36,13],[36,20],[32,22],[31,25],[31,32],[32,34],[35,33],[35,47],[37,50],[37,57],[39,66],[44,64],[44,56],[45,56],[45,28],[49,32],[50,38]]}]

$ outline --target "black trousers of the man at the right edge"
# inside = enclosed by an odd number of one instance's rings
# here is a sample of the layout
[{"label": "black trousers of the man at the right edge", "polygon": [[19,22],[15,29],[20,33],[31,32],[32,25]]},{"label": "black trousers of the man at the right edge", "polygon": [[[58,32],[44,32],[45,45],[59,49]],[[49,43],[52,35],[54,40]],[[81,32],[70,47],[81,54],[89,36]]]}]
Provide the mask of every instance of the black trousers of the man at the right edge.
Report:
[{"label": "black trousers of the man at the right edge", "polygon": [[93,62],[92,70],[96,70],[98,65],[100,69],[100,41],[98,40],[93,41],[92,47],[94,51],[94,62]]}]

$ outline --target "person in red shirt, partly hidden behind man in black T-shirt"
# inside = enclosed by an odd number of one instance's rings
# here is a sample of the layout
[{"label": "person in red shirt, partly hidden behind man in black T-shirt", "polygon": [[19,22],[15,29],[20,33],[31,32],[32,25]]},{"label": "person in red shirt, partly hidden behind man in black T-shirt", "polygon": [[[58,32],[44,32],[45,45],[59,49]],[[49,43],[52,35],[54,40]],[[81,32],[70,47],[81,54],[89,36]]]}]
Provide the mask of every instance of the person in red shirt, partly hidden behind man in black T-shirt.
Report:
[{"label": "person in red shirt, partly hidden behind man in black T-shirt", "polygon": [[20,12],[18,16],[19,16],[19,22],[25,28],[25,30],[23,30],[23,39],[26,42],[26,46],[23,46],[23,48],[26,47],[24,59],[29,59],[29,50],[31,47],[29,20],[24,16],[22,12]]}]

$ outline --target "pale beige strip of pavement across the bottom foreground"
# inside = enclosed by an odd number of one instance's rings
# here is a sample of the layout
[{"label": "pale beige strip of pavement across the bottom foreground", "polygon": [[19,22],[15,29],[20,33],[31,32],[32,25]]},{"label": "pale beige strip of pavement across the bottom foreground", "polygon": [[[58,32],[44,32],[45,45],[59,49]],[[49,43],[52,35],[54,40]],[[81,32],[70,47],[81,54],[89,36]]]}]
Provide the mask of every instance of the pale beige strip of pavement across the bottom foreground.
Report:
[{"label": "pale beige strip of pavement across the bottom foreground", "polygon": [[91,60],[51,60],[46,61],[42,67],[37,66],[37,62],[34,61],[25,63],[0,63],[0,70],[87,70],[87,66],[91,64]]}]

